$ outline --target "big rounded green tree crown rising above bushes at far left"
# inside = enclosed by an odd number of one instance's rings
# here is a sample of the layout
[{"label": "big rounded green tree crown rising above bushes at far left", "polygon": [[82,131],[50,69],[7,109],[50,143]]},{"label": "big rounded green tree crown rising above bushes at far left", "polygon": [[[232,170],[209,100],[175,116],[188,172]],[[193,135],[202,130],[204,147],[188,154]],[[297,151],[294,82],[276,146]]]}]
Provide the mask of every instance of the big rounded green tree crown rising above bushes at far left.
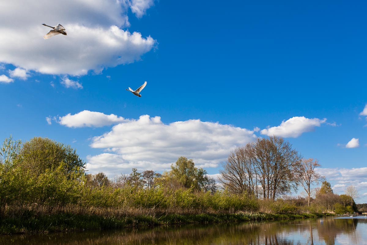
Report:
[{"label": "big rounded green tree crown rising above bushes at far left", "polygon": [[26,141],[19,151],[17,161],[36,176],[46,169],[65,163],[66,173],[84,173],[85,162],[79,158],[76,150],[49,138],[34,137]]}]

